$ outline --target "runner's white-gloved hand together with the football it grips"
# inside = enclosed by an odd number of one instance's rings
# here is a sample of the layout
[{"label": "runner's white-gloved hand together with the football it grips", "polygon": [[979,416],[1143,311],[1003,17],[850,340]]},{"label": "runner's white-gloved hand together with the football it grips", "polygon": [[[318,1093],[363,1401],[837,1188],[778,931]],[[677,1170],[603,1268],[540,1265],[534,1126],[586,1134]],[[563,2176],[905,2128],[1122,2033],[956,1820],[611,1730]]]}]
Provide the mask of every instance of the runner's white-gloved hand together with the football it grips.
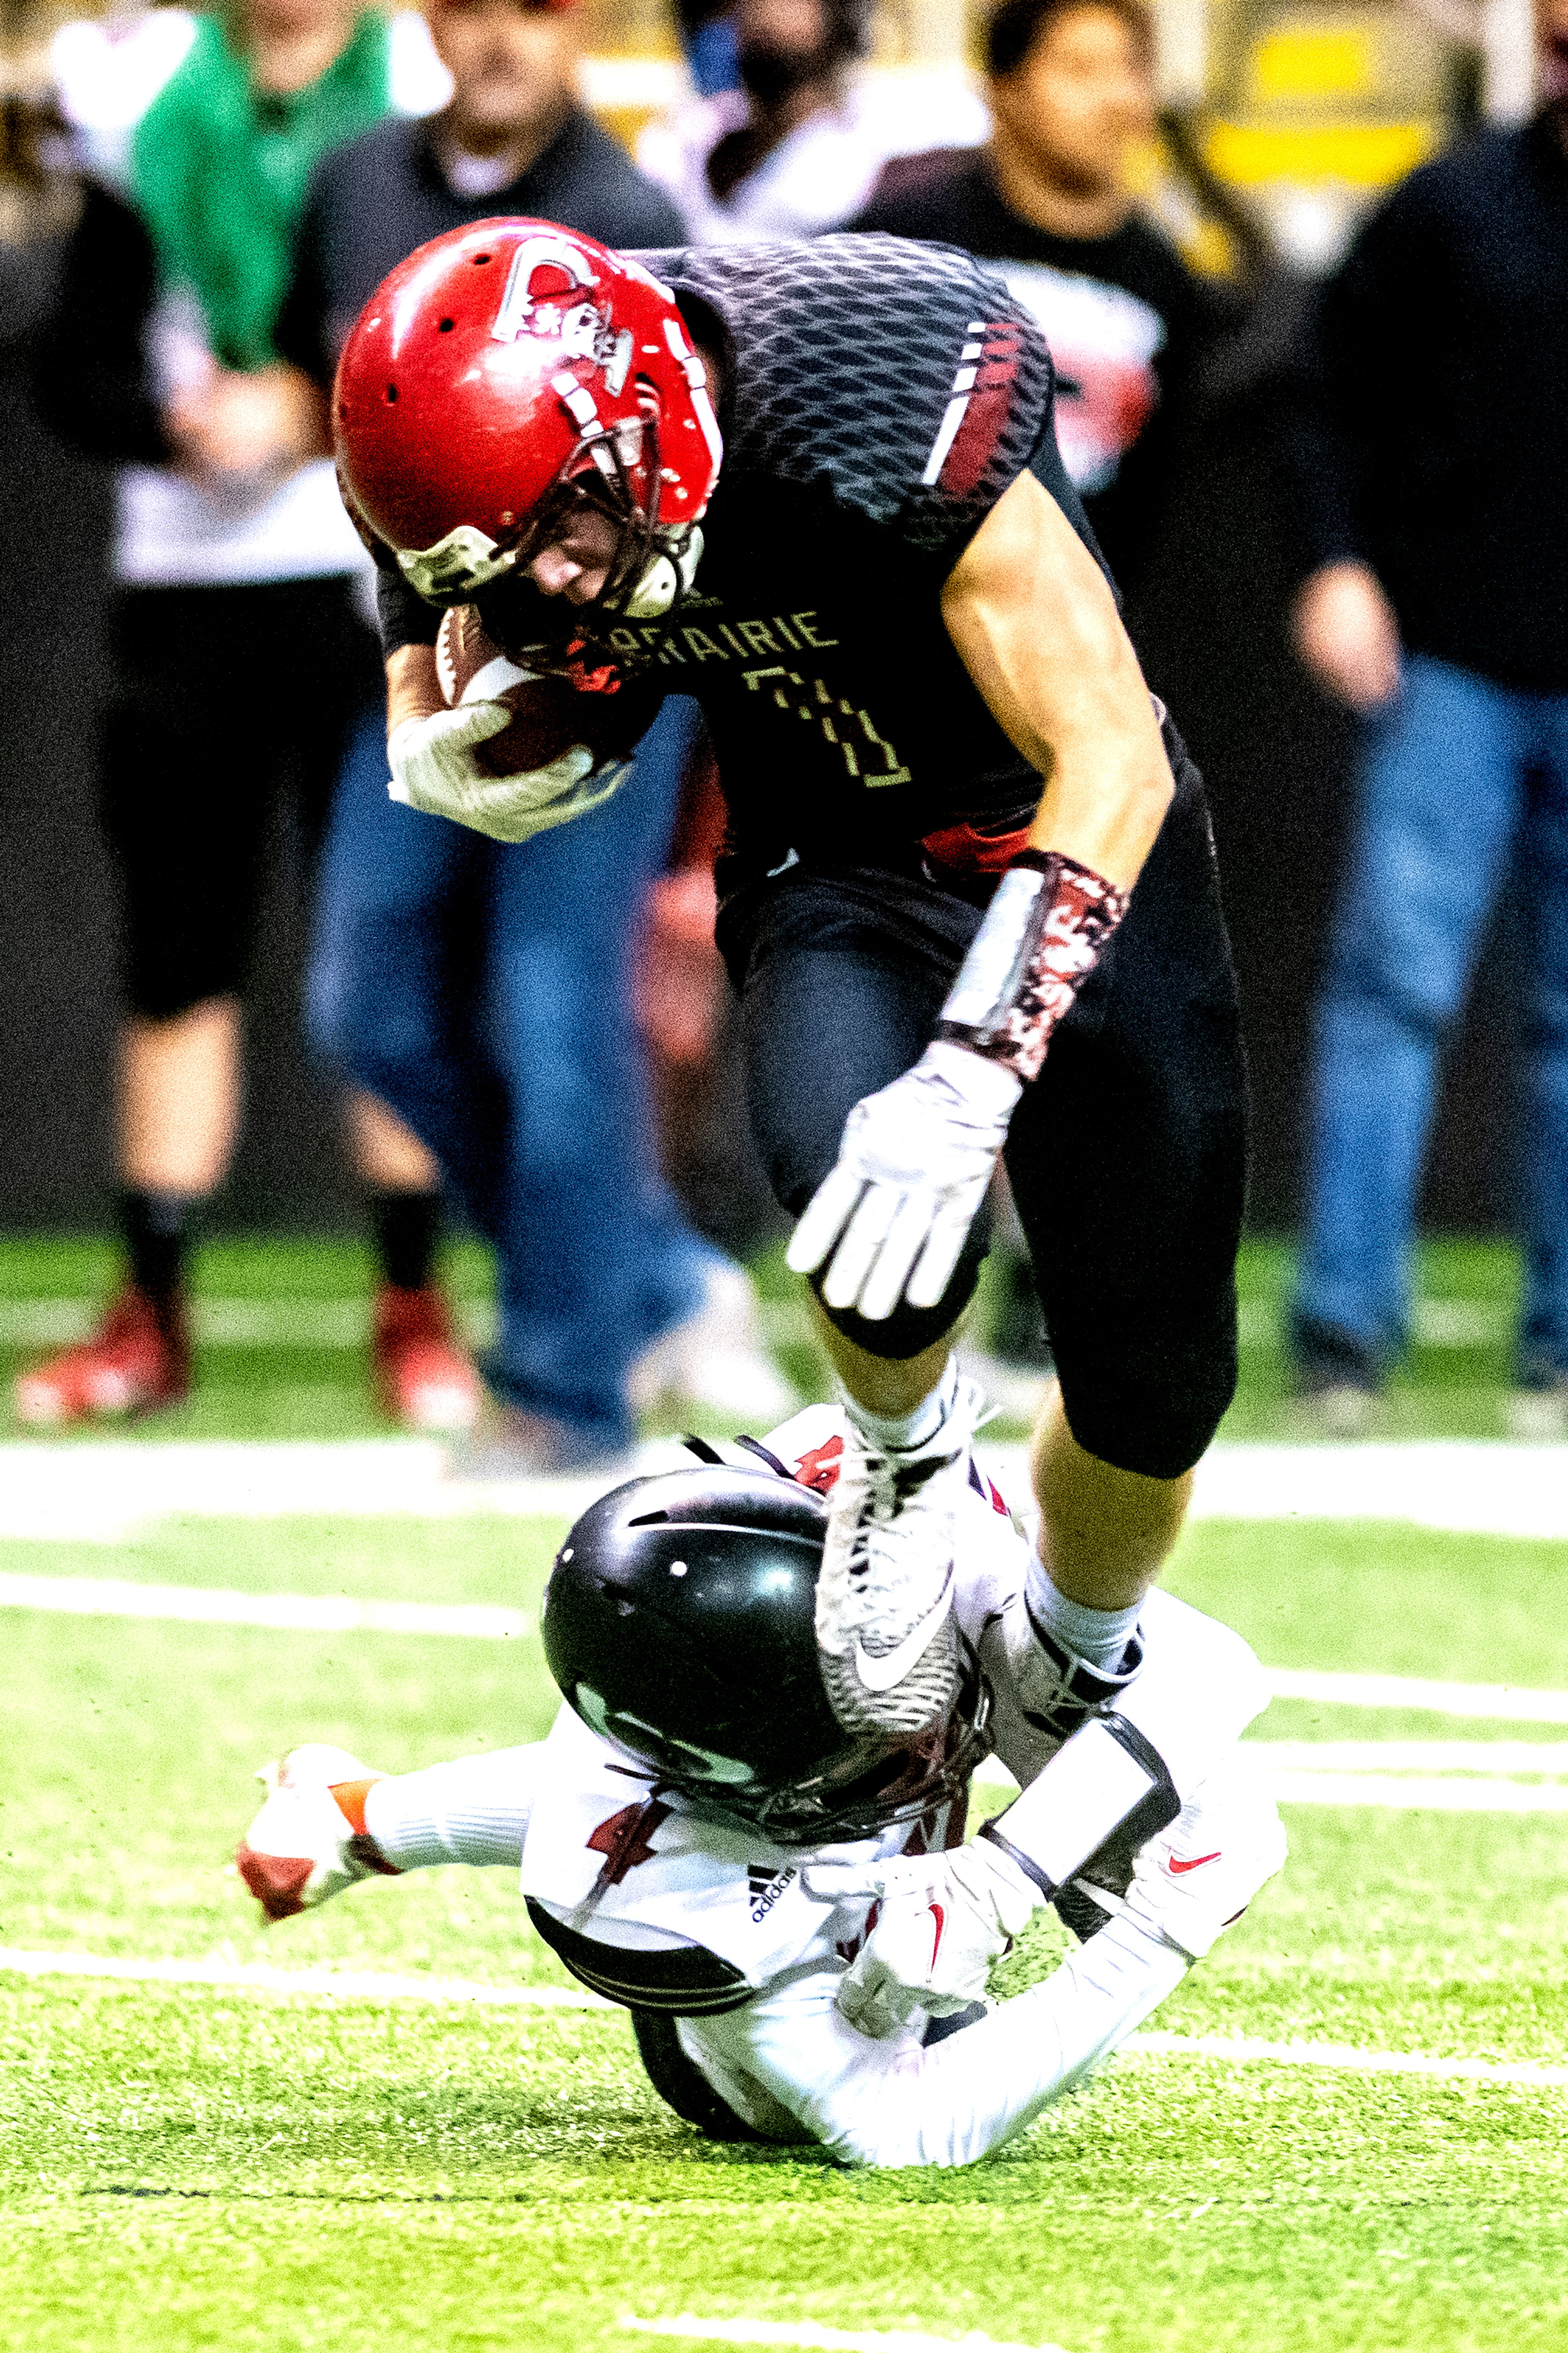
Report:
[{"label": "runner's white-gloved hand together with the football it grips", "polygon": [[629,722],[619,696],[539,678],[452,605],[436,635],[447,708],[410,718],[386,741],[391,798],[450,816],[497,842],[525,842],[598,809],[626,781]]}]

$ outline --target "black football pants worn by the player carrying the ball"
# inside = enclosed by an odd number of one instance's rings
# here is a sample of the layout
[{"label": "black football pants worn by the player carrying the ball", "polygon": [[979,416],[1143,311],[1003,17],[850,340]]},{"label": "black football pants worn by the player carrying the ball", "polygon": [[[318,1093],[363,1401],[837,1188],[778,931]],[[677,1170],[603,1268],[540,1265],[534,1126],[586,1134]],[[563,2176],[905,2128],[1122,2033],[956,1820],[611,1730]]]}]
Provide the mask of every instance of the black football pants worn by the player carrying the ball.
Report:
[{"label": "black football pants worn by the player carrying the ball", "polygon": [[[1099,967],[1050,1040],[1008,1134],[1062,1402],[1078,1445],[1177,1478],[1236,1391],[1245,1068],[1208,807],[1168,727],[1177,795]],[[954,878],[944,878],[954,882]],[[751,1125],[796,1217],[843,1122],[916,1064],[979,927],[982,887],[942,887],[918,849],[777,875],[720,868],[718,946],[742,995]],[[970,1231],[946,1297],[885,1322],[829,1311],[859,1348],[909,1358],[968,1306],[989,1247]],[[817,1278],[819,1280],[819,1278]]]}]

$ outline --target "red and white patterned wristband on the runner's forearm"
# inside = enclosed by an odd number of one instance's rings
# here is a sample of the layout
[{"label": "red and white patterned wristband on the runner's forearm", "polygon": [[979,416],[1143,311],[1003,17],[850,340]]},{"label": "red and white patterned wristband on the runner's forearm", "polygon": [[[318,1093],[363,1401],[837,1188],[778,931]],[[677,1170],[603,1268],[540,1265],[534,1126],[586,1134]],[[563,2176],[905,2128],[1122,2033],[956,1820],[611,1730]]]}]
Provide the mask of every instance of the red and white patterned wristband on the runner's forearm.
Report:
[{"label": "red and white patterned wristband on the runner's forearm", "polygon": [[937,1038],[1036,1078],[1050,1033],[1128,913],[1128,892],[1057,849],[1024,849],[996,885]]}]

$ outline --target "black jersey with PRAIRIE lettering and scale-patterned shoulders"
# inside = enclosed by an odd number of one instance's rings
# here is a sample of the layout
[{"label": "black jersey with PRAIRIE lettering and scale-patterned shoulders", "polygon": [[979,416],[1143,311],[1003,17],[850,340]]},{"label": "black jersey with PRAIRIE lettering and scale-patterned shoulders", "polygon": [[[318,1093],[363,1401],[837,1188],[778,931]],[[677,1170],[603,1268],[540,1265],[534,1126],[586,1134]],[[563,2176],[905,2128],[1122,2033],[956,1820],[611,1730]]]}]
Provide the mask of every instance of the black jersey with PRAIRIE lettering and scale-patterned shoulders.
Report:
[{"label": "black jersey with PRAIRIE lettering and scale-patterned shoulders", "polygon": [[[1024,468],[1095,548],[1029,311],[970,254],[902,238],[638,259],[723,344],[727,381],[695,591],[610,628],[626,689],[697,696],[739,842],[864,856],[963,819],[1024,821],[1041,779],[939,600]],[[396,584],[384,602],[398,642],[433,633]]]}]

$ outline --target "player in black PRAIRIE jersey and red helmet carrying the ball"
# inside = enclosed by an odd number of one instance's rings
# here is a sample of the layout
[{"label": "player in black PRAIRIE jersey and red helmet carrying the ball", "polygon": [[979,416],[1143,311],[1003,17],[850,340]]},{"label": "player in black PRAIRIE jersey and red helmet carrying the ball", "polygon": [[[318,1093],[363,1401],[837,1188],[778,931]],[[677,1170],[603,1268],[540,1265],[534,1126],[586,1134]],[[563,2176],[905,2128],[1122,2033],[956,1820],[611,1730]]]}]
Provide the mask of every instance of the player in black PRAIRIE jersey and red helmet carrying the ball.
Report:
[{"label": "player in black PRAIRIE jersey and red helmet carrying the ball", "polygon": [[[1245,1106],[1201,781],[1052,433],[1036,322],[895,238],[614,256],[544,221],[424,247],[334,391],[381,565],[393,793],[520,840],[626,774],[530,774],[490,696],[699,696],[751,1115],[850,1414],[817,1631],[850,1729],[956,1680],[956,1325],[1005,1153],[1059,1386],[1029,1617],[1067,1725],[1137,1612],[1236,1374]],[[506,659],[443,706],[440,607]],[[598,704],[598,718],[610,706]],[[1048,1052],[1050,1049],[1050,1052]]]}]

